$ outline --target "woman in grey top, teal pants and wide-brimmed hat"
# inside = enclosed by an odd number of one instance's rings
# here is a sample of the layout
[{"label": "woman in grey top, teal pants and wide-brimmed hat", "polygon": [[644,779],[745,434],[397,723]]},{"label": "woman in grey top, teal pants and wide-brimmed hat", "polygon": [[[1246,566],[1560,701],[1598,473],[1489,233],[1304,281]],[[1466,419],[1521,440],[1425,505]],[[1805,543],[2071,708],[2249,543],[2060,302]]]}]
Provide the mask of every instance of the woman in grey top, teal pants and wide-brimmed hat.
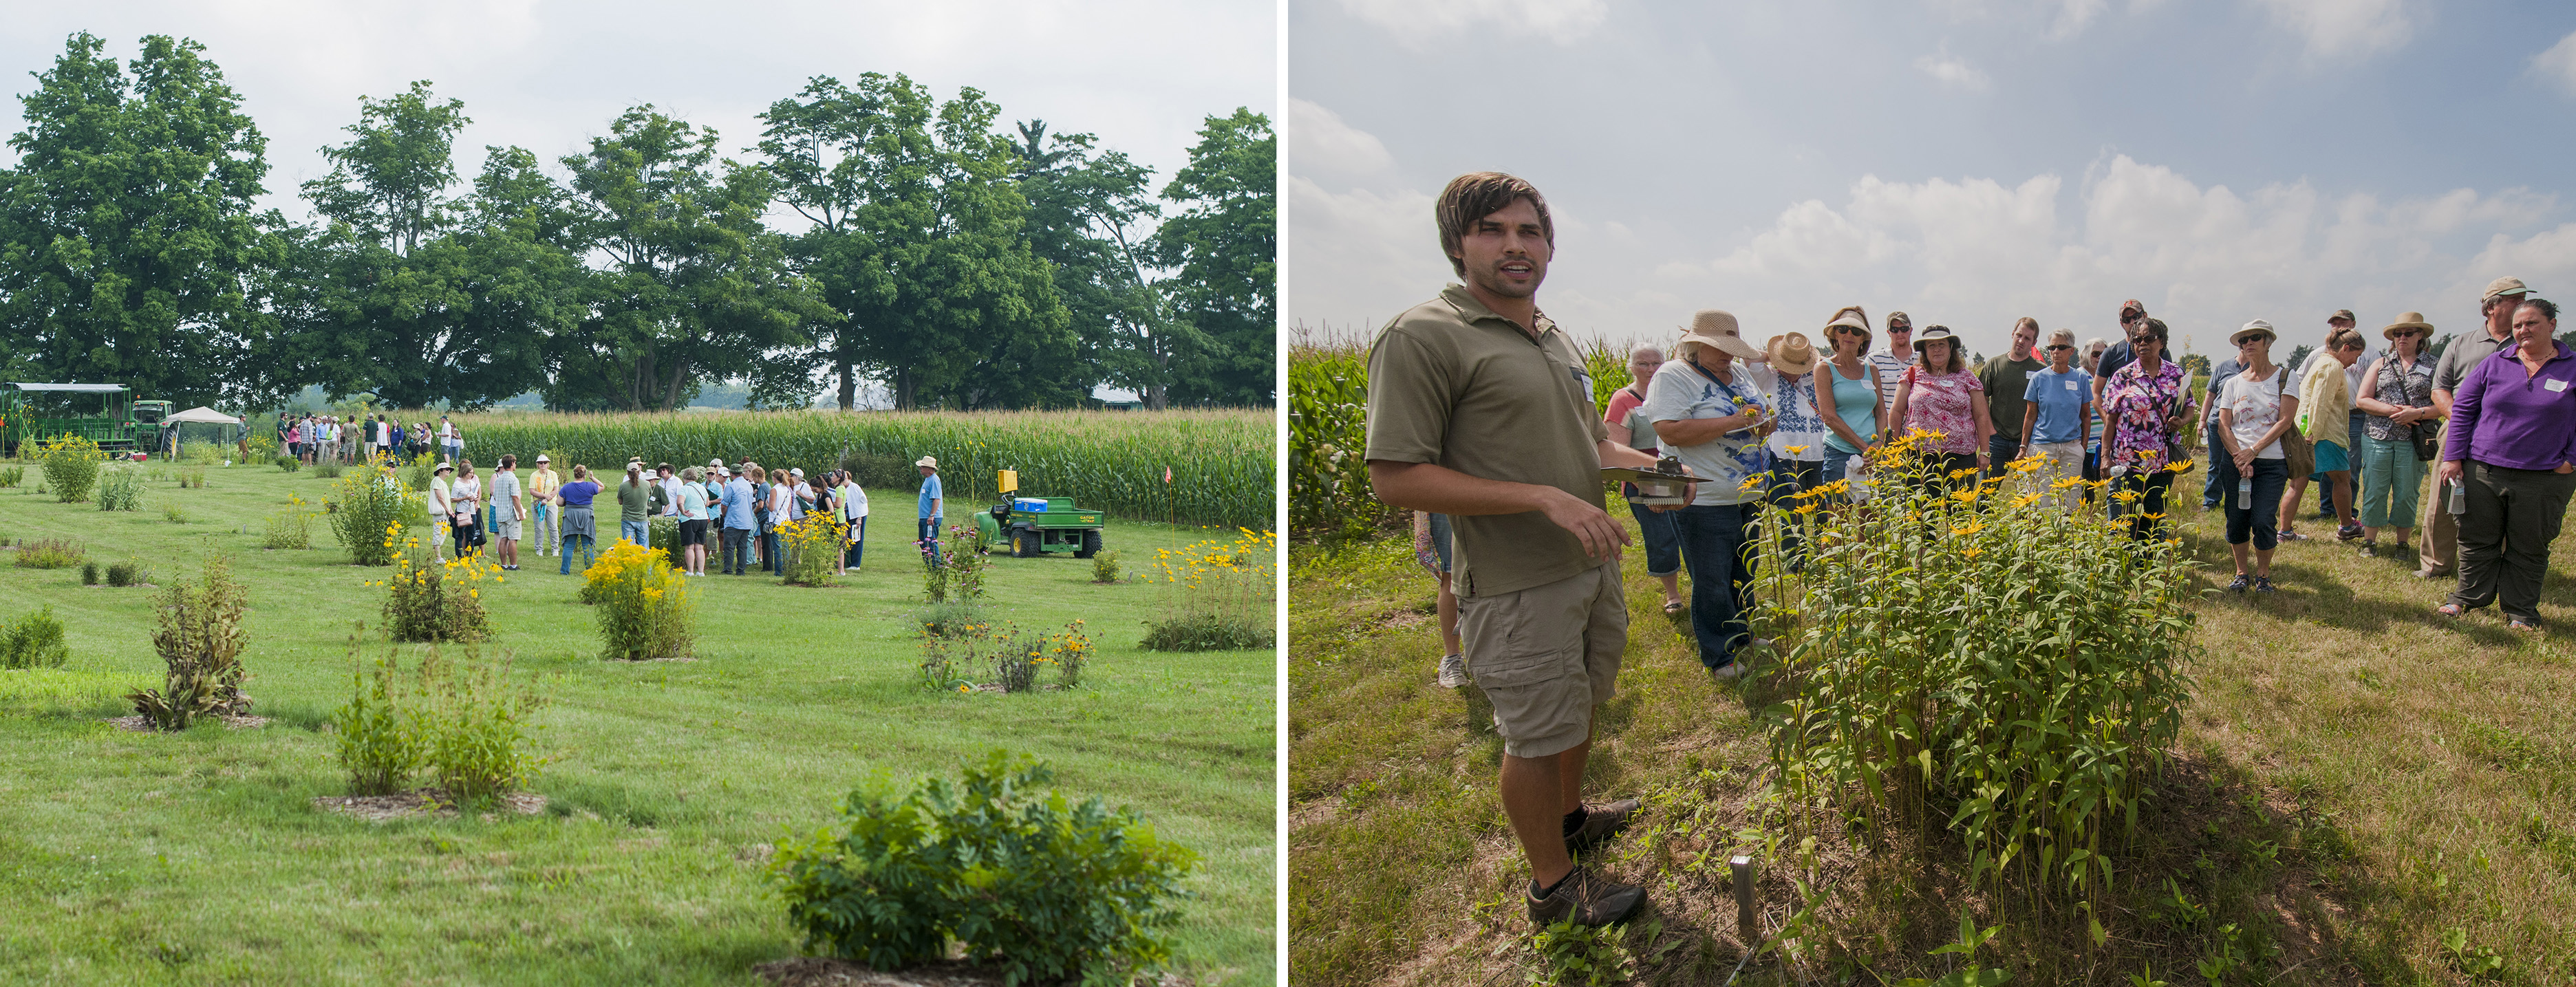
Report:
[{"label": "woman in grey top, teal pants and wide-brimmed hat", "polygon": [[2380,330],[2388,353],[2362,371],[2352,405],[2362,410],[2362,554],[2380,554],[2380,528],[2398,533],[2396,554],[2406,554],[2414,528],[2416,492],[2424,487],[2424,461],[2434,454],[2432,361],[2424,338],[2432,322],[2421,312],[2398,314]]}]

